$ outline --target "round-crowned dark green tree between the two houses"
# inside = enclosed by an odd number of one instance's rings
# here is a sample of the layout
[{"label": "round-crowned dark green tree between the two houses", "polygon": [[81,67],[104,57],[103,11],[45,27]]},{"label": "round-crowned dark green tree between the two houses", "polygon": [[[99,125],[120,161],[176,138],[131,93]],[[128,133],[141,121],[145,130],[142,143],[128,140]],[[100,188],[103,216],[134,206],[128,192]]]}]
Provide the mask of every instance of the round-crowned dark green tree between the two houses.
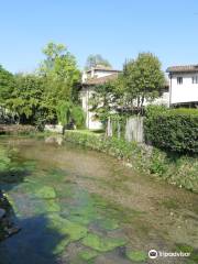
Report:
[{"label": "round-crowned dark green tree between the two houses", "polygon": [[131,107],[142,109],[146,100],[154,100],[160,96],[165,84],[161,62],[152,53],[141,53],[123,67],[122,76],[128,102]]}]

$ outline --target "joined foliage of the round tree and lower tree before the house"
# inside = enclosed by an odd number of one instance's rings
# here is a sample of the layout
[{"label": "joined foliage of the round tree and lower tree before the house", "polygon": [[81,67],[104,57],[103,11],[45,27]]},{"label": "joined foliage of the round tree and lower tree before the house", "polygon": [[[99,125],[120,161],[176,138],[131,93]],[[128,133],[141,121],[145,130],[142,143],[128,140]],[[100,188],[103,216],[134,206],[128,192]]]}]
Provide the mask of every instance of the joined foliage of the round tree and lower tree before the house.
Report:
[{"label": "joined foliage of the round tree and lower tree before the house", "polygon": [[106,127],[111,114],[143,113],[145,99],[157,98],[164,85],[158,58],[151,53],[141,53],[136,59],[124,64],[123,73],[116,80],[95,87],[90,110]]}]

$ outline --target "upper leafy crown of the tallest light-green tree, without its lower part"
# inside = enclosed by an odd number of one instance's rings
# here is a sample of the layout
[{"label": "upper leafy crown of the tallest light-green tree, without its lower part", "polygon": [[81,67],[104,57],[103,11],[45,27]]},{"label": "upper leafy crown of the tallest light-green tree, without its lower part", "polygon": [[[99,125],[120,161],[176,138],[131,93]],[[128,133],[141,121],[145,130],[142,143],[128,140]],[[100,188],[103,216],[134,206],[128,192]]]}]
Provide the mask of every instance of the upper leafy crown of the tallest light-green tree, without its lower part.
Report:
[{"label": "upper leafy crown of the tallest light-green tree, without its lower part", "polygon": [[52,92],[53,97],[55,94],[56,101],[70,100],[75,94],[73,90],[80,81],[75,57],[65,45],[53,42],[43,48],[43,53],[46,58],[42,62],[38,73],[45,77],[46,92]]}]

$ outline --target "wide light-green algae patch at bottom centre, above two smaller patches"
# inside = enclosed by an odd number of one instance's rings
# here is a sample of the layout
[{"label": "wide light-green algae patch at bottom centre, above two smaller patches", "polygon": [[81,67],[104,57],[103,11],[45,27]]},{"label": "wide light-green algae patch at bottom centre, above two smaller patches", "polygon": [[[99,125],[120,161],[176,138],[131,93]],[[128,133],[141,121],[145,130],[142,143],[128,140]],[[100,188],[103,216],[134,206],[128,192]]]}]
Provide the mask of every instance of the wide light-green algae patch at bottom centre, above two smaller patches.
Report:
[{"label": "wide light-green algae patch at bottom centre, above two smaller patches", "polygon": [[108,252],[116,248],[123,246],[127,244],[127,240],[124,239],[111,239],[99,237],[94,233],[89,233],[85,239],[82,239],[81,243],[88,248],[91,248],[99,252]]}]

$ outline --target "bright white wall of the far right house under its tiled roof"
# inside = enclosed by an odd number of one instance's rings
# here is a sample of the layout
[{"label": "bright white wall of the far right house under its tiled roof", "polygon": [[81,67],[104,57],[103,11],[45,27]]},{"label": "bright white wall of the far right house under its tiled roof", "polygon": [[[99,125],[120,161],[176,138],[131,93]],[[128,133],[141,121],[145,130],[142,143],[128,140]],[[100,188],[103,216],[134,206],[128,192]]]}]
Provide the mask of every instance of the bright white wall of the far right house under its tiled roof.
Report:
[{"label": "bright white wall of the far right house under its tiled roof", "polygon": [[[170,103],[198,101],[198,84],[193,84],[193,76],[196,74],[173,75],[169,79]],[[182,85],[177,85],[177,77],[183,77]]]}]

